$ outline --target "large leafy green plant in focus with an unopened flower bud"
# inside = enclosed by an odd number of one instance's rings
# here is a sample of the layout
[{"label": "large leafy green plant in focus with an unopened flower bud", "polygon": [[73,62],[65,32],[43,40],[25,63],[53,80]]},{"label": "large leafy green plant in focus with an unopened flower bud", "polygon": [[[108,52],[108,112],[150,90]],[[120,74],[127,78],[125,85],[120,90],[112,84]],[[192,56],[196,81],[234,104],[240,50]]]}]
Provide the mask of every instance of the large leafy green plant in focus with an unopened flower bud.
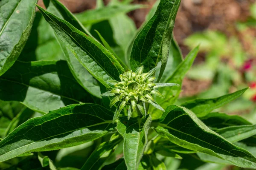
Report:
[{"label": "large leafy green plant in focus with an unopened flower bud", "polygon": [[218,112],[247,88],[179,98],[199,48],[183,59],[172,36],[180,0],[138,31],[128,2],[0,0],[1,170],[256,168],[255,125]]}]

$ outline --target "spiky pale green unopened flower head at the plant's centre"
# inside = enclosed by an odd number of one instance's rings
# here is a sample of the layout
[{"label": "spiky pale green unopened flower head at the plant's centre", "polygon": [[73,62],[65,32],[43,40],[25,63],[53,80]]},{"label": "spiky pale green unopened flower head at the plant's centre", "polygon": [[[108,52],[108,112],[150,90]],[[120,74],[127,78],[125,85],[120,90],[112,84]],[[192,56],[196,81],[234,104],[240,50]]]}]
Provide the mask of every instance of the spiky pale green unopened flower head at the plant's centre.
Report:
[{"label": "spiky pale green unopened flower head at the plant's centre", "polygon": [[146,116],[146,103],[150,103],[160,111],[164,111],[164,109],[154,101],[151,95],[154,94],[165,98],[163,94],[157,91],[157,88],[179,85],[176,83],[154,83],[155,71],[156,68],[153,68],[148,73],[143,73],[143,66],[141,66],[137,68],[135,72],[127,71],[124,74],[120,74],[119,78],[121,82],[116,80],[109,81],[115,88],[102,94],[102,96],[115,96],[110,102],[111,108],[117,102],[120,102],[119,107],[116,108],[113,123],[116,121],[125,105],[128,105],[128,120],[131,114],[137,111],[137,108],[143,116]]}]

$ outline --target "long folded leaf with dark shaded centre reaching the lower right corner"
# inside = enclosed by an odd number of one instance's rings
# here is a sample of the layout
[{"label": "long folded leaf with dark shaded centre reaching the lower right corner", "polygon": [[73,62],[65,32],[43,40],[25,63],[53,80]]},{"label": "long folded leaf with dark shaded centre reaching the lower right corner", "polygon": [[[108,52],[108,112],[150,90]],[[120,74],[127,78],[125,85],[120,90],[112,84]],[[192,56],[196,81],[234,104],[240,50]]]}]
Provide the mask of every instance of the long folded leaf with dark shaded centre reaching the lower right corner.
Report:
[{"label": "long folded leaf with dark shaded centre reaching the lower right corner", "polygon": [[216,156],[239,167],[256,167],[256,158],[251,153],[210,130],[186,108],[169,106],[155,130],[171,142],[187,149]]}]

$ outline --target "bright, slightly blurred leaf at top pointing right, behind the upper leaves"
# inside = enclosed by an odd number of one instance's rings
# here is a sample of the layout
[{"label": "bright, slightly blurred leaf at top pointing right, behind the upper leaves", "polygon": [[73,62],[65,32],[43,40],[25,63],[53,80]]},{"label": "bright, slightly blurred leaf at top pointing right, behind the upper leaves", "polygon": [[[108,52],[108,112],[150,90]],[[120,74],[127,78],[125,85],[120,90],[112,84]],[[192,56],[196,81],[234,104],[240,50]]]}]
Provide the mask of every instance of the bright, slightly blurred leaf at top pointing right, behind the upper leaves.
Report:
[{"label": "bright, slightly blurred leaf at top pointing right, behind the upper leaves", "polygon": [[115,17],[118,14],[125,14],[129,11],[133,11],[138,8],[143,8],[142,5],[117,5],[106,6],[103,8],[97,8],[94,10],[87,10],[82,13],[76,14],[76,17],[83,25],[91,25],[93,23],[99,23],[103,20],[108,20],[111,17]]}]

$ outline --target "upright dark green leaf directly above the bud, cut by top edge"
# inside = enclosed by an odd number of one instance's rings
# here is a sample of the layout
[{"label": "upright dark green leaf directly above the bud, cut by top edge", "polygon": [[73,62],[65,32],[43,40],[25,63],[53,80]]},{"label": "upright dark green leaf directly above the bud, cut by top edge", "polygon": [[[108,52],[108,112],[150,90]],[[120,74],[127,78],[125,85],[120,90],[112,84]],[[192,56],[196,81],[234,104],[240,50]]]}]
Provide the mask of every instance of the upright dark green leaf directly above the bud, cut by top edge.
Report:
[{"label": "upright dark green leaf directly above the bud, cut by top edge", "polygon": [[[130,56],[130,65],[133,71],[144,65],[145,72],[148,72],[157,66],[162,56],[162,62],[164,65],[166,64],[179,6],[180,0],[160,0],[154,16],[145,24],[134,40]],[[164,68],[161,69],[161,74]]]}]

